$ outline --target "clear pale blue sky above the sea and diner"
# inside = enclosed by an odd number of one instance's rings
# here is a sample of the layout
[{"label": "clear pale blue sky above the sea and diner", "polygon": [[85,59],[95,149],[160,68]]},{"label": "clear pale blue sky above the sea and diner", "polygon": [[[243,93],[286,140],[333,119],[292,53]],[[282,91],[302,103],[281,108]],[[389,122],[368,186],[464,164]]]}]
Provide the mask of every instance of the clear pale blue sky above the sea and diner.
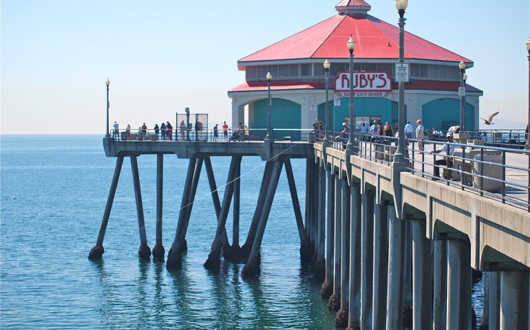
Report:
[{"label": "clear pale blue sky above the sea and diner", "polygon": [[[396,25],[392,0],[367,0]],[[190,107],[231,120],[237,60],[336,14],[339,0],[1,1],[1,133],[105,133],[175,121]],[[411,0],[405,30],[474,61],[480,116],[522,126],[528,111],[529,0]],[[503,122],[511,120],[519,124]],[[509,127],[506,127],[509,128]]]}]

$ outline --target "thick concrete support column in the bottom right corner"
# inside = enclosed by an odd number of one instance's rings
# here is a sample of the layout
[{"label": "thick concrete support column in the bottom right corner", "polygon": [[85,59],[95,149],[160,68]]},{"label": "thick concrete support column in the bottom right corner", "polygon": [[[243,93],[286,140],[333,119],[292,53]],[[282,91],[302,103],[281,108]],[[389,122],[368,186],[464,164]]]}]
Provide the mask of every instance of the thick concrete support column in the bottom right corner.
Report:
[{"label": "thick concrete support column in the bottom right corner", "polygon": [[529,329],[527,270],[500,272],[500,329]]}]

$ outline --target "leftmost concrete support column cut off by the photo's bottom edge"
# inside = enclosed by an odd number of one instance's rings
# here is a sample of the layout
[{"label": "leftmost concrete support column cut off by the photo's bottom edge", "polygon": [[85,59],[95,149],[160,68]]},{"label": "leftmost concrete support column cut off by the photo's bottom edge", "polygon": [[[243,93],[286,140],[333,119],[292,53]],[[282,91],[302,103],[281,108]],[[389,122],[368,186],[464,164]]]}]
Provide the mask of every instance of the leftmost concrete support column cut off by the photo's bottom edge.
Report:
[{"label": "leftmost concrete support column cut off by the photo's bottom edge", "polygon": [[348,329],[361,329],[361,186],[350,187],[350,284]]}]

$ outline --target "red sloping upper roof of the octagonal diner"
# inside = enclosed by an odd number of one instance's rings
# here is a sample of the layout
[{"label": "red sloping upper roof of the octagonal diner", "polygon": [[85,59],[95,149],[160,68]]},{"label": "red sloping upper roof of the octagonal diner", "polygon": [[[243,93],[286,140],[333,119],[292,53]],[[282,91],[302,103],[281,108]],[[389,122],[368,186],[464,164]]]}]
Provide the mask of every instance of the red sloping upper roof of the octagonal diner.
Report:
[{"label": "red sloping upper roof of the octagonal diner", "polygon": [[[364,1],[345,0],[343,2]],[[326,19],[287,39],[240,59],[238,65],[244,67],[244,62],[251,61],[348,58],[346,41],[350,35],[353,36],[357,44],[354,50],[355,58],[399,58],[399,28],[368,14],[352,14],[337,15]],[[463,56],[406,31],[405,58],[457,63],[463,59],[467,63],[472,63],[471,60]]]}]

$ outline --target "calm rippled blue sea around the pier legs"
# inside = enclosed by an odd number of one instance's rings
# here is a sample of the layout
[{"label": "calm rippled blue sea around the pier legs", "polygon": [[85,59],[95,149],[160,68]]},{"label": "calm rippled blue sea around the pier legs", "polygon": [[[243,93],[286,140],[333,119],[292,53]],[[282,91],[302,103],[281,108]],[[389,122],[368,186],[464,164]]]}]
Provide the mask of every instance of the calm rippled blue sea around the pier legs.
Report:
[{"label": "calm rippled blue sea around the pier legs", "polygon": [[[100,135],[1,135],[1,329],[333,329],[299,238],[285,175],[279,181],[262,243],[259,279],[242,264],[202,267],[215,234],[206,175],[191,214],[182,270],[138,259],[138,222],[131,166],[122,168],[101,261],[89,261],[116,164]],[[230,159],[213,157],[218,186]],[[153,248],[156,157],[138,158],[147,239]],[[242,163],[241,237],[253,215],[264,162]],[[187,160],[165,156],[164,236],[171,247]],[[304,208],[305,161],[293,160]],[[222,198],[223,189],[220,191]],[[231,237],[231,216],[227,231]],[[474,287],[474,301],[481,285]],[[476,303],[474,303],[476,304]],[[477,310],[477,314],[481,311]],[[480,317],[480,315],[479,315]]]}]

